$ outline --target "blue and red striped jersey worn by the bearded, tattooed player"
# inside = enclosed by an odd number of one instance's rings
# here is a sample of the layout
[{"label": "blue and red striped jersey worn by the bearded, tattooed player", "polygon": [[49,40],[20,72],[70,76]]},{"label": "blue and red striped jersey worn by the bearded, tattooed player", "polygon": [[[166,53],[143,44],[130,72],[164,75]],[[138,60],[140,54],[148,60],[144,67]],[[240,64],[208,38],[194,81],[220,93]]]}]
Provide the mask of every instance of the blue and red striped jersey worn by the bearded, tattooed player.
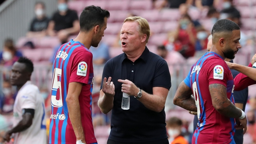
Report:
[{"label": "blue and red striped jersey worn by the bearded, tattooed player", "polygon": [[184,82],[193,92],[199,120],[192,144],[233,143],[235,119],[221,115],[213,107],[209,91],[209,85],[222,84],[227,88],[227,98],[235,103],[234,80],[222,57],[207,52],[192,66]]}]

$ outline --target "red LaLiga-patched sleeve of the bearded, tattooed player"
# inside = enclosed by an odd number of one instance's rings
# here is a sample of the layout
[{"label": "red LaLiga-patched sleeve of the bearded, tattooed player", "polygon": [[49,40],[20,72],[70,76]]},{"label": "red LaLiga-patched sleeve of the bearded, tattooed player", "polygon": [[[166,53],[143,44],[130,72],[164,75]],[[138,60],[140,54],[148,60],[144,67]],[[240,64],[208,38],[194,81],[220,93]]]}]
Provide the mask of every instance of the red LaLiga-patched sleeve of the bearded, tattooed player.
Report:
[{"label": "red LaLiga-patched sleeve of the bearded, tattooed player", "polygon": [[207,77],[210,84],[222,84],[227,87],[227,80],[231,74],[226,62],[221,59],[209,59],[207,63]]}]

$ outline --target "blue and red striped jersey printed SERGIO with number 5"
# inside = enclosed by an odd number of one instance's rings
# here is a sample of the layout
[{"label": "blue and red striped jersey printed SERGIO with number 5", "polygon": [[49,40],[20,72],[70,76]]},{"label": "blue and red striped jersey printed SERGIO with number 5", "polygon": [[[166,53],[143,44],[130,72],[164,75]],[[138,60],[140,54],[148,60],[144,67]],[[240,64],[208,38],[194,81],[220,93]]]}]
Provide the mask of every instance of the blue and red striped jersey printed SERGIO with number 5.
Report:
[{"label": "blue and red striped jersey printed SERGIO with number 5", "polygon": [[53,63],[49,143],[76,143],[66,102],[70,82],[83,83],[79,104],[85,141],[87,144],[96,143],[92,125],[92,53],[82,43],[73,40],[59,48]]}]

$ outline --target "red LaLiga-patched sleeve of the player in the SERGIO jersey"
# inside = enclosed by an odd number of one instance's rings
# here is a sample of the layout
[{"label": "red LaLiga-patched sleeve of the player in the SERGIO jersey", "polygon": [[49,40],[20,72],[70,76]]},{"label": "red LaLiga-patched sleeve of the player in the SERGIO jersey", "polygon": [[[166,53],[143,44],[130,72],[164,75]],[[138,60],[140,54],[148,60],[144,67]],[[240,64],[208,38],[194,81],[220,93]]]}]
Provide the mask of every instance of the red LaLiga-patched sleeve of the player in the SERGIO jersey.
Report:
[{"label": "red LaLiga-patched sleeve of the player in the SERGIO jersey", "polygon": [[72,52],[71,72],[69,82],[81,82],[83,84],[91,84],[91,77],[93,76],[92,69],[92,53],[85,48],[78,48]]}]

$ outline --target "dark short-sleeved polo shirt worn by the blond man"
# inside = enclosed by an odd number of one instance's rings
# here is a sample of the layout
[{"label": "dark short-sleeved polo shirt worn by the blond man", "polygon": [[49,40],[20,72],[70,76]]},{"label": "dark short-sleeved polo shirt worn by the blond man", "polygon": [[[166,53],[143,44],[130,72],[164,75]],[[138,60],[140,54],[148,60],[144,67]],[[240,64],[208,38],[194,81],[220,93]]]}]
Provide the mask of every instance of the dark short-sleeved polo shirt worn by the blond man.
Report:
[{"label": "dark short-sleeved polo shirt worn by the blond man", "polygon": [[143,143],[167,138],[164,109],[160,113],[149,110],[131,96],[130,109],[122,110],[122,83],[117,81],[130,80],[149,94],[153,93],[153,87],[169,90],[171,76],[167,62],[163,58],[150,52],[147,47],[134,63],[123,53],[108,60],[104,66],[102,82],[104,77],[112,77],[116,93],[111,115],[110,140]]}]

